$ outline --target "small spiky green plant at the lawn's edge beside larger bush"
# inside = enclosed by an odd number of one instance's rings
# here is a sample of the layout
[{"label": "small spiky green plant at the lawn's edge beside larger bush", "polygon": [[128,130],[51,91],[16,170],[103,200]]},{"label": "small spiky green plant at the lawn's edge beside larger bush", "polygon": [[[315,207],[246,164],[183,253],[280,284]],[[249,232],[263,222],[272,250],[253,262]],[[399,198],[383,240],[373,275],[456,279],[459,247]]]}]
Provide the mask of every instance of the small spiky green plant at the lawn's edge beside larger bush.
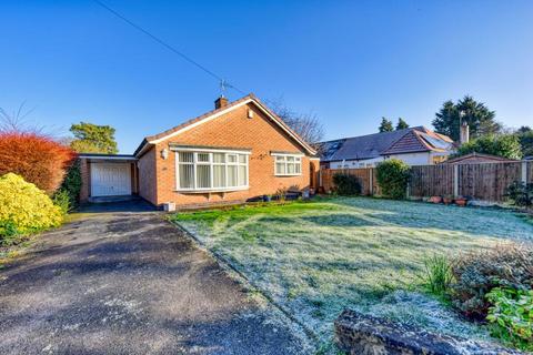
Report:
[{"label": "small spiky green plant at the lawn's edge beside larger bush", "polygon": [[428,291],[438,296],[444,296],[453,281],[450,260],[445,255],[434,254],[424,260],[424,281]]}]

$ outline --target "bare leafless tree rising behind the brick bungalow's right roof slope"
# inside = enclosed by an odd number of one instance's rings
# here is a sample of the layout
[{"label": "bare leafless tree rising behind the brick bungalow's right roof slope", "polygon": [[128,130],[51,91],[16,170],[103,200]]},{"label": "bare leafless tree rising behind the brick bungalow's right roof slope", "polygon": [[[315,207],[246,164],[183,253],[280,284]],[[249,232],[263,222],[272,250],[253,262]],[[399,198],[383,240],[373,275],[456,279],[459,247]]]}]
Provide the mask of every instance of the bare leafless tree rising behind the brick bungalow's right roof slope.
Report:
[{"label": "bare leafless tree rising behind the brick bungalow's right roof slope", "polygon": [[323,139],[324,128],[316,114],[295,112],[282,99],[270,102],[270,108],[305,142],[314,144]]}]

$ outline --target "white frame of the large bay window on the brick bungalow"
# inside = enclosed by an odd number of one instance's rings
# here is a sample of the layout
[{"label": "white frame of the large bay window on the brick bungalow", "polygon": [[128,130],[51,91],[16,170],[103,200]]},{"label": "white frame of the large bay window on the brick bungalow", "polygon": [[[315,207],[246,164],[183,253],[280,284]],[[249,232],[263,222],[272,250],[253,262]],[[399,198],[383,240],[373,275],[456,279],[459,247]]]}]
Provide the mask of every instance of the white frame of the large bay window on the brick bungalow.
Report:
[{"label": "white frame of the large bay window on the brick bungalow", "polygon": [[[174,158],[175,158],[175,191],[179,192],[225,192],[225,191],[239,191],[239,190],[248,190],[250,187],[250,152],[249,151],[234,151],[234,150],[207,150],[207,149],[174,149]],[[180,154],[179,153],[192,153],[193,154],[193,161],[192,163],[185,162],[182,163],[180,162]],[[198,161],[198,154],[201,153],[208,153],[209,154],[209,162],[199,162]],[[215,163],[213,159],[213,154],[220,153],[224,154],[224,162],[223,163]],[[229,155],[234,155],[237,161],[235,162],[229,162],[228,156]],[[241,163],[239,160],[239,155],[244,155],[245,162]],[[193,170],[193,187],[180,187],[180,165],[192,165]],[[197,181],[197,166],[198,165],[209,165],[210,166],[210,185],[211,187],[198,187],[198,181]],[[213,187],[214,179],[213,179],[213,172],[214,165],[224,165],[225,166],[225,172],[224,172],[224,185],[222,187]],[[237,166],[237,185],[235,186],[228,186],[228,166]],[[239,181],[241,180],[239,176],[240,174],[240,166],[247,166],[247,179],[245,179],[245,184],[244,185],[239,185]]]}]

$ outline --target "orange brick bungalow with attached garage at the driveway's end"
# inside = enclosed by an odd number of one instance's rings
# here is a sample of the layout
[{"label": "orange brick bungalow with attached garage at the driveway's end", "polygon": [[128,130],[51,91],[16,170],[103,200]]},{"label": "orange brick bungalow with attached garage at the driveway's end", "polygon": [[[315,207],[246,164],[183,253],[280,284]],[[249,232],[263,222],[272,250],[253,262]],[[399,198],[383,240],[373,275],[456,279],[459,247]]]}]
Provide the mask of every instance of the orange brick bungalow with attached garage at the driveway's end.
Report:
[{"label": "orange brick bungalow with attached garage at the driveway's end", "polygon": [[82,201],[138,194],[150,203],[244,202],[314,185],[316,151],[253,94],[159,134],[132,155],[80,154]]}]

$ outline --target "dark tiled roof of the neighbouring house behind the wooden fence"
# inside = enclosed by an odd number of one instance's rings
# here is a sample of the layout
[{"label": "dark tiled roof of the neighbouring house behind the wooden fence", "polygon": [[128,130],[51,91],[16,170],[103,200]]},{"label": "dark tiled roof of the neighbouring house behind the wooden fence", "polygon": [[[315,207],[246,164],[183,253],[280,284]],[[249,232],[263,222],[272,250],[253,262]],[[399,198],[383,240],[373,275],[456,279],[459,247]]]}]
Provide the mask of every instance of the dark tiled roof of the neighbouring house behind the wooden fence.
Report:
[{"label": "dark tiled roof of the neighbouring house behind the wooden fence", "polygon": [[320,143],[321,160],[365,160],[410,152],[449,151],[453,141],[424,126],[374,133]]}]

